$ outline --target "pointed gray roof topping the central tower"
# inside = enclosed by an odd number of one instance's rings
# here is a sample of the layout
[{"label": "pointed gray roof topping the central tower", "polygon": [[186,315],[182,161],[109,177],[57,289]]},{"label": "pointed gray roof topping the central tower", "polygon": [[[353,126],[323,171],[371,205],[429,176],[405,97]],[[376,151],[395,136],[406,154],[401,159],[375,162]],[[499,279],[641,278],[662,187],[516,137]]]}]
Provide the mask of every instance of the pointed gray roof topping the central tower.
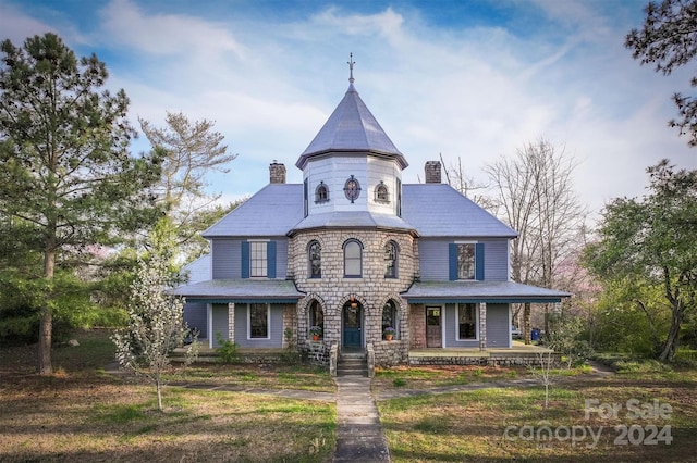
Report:
[{"label": "pointed gray roof topping the central tower", "polygon": [[304,168],[307,160],[326,152],[375,152],[394,158],[402,168],[408,163],[363,102],[353,84],[315,139],[295,165]]}]

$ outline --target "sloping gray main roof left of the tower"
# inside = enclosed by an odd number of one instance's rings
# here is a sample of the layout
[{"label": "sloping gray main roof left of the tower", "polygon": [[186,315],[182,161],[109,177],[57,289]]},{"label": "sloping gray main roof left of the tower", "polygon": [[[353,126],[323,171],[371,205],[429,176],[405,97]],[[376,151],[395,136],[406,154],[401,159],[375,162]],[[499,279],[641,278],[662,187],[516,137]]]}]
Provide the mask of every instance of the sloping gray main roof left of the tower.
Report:
[{"label": "sloping gray main roof left of the tower", "polygon": [[284,236],[303,220],[303,186],[269,184],[203,233],[225,236]]}]

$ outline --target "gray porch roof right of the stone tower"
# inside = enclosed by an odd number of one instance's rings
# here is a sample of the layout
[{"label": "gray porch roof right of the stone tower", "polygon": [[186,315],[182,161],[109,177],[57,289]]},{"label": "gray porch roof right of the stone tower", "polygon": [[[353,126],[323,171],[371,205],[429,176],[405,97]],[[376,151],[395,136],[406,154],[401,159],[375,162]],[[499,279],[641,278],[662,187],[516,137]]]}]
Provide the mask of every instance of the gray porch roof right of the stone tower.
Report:
[{"label": "gray porch roof right of the stone tower", "polygon": [[561,302],[572,295],[515,281],[416,281],[402,292],[409,303],[525,303]]}]

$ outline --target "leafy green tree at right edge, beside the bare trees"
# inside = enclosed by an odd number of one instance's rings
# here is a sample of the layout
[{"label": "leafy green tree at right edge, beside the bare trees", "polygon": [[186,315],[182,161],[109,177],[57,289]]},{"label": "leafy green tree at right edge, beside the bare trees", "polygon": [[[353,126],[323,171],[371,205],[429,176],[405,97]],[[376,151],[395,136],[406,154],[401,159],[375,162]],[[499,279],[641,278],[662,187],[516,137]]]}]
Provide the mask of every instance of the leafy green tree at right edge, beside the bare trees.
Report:
[{"label": "leafy green tree at right edge, beside the bare trees", "polygon": [[[588,246],[584,259],[607,284],[626,280],[661,290],[670,308],[670,327],[662,333],[658,359],[670,361],[680,345],[681,326],[697,306],[697,171],[675,171],[662,160],[647,172],[650,193],[608,204],[600,240]],[[638,302],[647,314],[657,309],[649,306],[648,298]]]}]

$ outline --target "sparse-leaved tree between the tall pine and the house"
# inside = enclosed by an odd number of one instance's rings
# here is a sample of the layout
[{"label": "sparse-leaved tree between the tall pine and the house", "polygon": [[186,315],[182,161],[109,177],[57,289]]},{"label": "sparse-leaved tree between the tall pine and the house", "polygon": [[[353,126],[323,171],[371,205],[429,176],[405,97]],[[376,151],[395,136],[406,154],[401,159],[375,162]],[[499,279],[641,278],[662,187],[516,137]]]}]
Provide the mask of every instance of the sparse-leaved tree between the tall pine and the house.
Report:
[{"label": "sparse-leaved tree between the tall pine and the house", "polygon": [[219,195],[205,191],[206,175],[211,171],[230,172],[225,164],[237,155],[228,153],[222,145],[224,137],[213,132],[211,121],[191,122],[181,112],[168,112],[164,128],[138,121],[154,150],[163,157],[158,201],[176,228],[179,246],[189,259],[198,258],[207,247],[199,232],[211,225],[210,217],[220,211],[212,207]]}]

